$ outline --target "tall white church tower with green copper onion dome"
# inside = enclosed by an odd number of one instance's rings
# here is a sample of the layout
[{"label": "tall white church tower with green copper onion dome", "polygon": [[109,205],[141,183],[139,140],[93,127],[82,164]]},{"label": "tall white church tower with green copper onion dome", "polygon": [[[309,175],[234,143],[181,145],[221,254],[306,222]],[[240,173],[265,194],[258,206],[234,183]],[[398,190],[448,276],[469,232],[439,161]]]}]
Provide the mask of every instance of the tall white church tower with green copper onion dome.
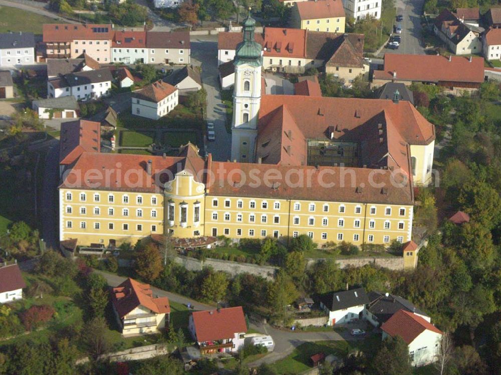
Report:
[{"label": "tall white church tower with green copper onion dome", "polygon": [[261,45],[254,40],[256,21],[243,21],[243,42],[236,47],[234,60],[233,122],[231,125],[231,160],[253,163],[258,136],[261,104]]}]

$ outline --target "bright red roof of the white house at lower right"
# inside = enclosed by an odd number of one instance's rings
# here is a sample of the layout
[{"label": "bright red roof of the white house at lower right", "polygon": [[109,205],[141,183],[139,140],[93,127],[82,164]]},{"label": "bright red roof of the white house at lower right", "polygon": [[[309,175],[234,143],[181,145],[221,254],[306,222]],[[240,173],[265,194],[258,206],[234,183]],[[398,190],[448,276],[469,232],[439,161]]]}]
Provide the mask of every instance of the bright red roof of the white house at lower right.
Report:
[{"label": "bright red roof of the white house at lower right", "polygon": [[381,329],[390,336],[401,336],[408,344],[415,340],[426,329],[443,334],[443,332],[433,324],[424,320],[421,316],[405,310],[398,310],[389,318]]}]

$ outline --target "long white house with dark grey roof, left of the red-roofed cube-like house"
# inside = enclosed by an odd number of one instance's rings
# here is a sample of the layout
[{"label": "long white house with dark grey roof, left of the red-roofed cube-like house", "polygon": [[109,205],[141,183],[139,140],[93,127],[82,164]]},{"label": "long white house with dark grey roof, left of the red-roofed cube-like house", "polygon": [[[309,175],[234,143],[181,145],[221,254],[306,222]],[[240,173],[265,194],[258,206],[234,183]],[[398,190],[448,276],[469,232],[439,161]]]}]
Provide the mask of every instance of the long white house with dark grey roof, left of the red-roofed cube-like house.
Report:
[{"label": "long white house with dark grey roof, left of the red-roofed cube-like house", "polygon": [[70,73],[47,81],[47,97],[74,96],[77,100],[108,95],[113,77],[108,68]]}]

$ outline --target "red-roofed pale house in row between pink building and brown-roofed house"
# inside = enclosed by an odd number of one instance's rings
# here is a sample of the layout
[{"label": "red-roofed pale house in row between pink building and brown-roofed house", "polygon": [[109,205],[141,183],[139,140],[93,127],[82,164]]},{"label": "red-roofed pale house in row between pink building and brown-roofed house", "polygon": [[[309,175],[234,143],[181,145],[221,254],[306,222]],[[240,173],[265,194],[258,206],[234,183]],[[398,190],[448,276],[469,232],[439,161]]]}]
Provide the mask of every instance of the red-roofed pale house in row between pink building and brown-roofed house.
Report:
[{"label": "red-roofed pale house in row between pink building and brown-roofed house", "polygon": [[111,42],[111,61],[114,63],[147,63],[146,32],[116,31]]}]

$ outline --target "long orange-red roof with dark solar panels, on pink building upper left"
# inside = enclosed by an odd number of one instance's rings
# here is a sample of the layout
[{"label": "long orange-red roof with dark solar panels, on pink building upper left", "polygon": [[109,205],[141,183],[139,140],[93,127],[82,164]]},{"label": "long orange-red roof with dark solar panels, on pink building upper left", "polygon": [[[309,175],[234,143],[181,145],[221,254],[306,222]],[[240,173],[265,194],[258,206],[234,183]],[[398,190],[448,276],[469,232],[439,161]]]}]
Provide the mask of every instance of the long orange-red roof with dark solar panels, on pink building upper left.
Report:
[{"label": "long orange-red roof with dark solar panels, on pink building upper left", "polygon": [[111,25],[106,24],[44,24],[44,42],[72,42],[74,40],[109,40],[113,38]]}]

